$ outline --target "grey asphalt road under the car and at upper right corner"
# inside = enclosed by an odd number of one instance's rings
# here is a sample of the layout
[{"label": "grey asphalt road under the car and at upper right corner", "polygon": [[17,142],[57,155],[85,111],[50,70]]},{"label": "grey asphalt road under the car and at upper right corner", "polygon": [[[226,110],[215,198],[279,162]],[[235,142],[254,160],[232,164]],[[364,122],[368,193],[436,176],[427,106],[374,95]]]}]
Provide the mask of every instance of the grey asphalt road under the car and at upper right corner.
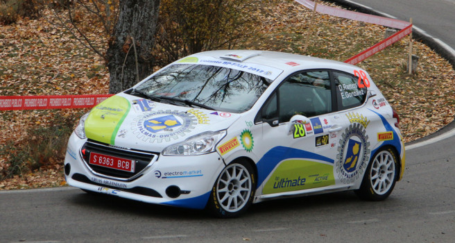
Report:
[{"label": "grey asphalt road under the car and at upper right corner", "polygon": [[[455,47],[454,0],[357,2],[413,17]],[[404,179],[386,201],[352,192],[306,196],[255,204],[229,220],[71,187],[3,191],[0,242],[454,242],[454,142],[408,149]]]}]

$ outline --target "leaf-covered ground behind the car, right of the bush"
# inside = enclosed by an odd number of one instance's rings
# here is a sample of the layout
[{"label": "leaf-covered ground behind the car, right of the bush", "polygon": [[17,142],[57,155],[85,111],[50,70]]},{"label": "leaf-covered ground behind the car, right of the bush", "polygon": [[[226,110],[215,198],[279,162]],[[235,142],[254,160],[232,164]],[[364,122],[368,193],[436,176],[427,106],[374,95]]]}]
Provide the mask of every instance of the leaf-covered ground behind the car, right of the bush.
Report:
[{"label": "leaf-covered ground behind the car, right of the bush", "polygon": [[[328,4],[336,7],[333,3]],[[285,51],[344,61],[384,39],[386,28],[316,13],[295,1],[280,0],[261,8],[261,33],[242,48]],[[304,50],[308,38],[307,50]],[[401,119],[405,142],[438,131],[454,120],[455,72],[426,45],[413,41],[420,56],[416,74],[408,75],[409,37],[405,37],[357,66],[366,69]]]}]

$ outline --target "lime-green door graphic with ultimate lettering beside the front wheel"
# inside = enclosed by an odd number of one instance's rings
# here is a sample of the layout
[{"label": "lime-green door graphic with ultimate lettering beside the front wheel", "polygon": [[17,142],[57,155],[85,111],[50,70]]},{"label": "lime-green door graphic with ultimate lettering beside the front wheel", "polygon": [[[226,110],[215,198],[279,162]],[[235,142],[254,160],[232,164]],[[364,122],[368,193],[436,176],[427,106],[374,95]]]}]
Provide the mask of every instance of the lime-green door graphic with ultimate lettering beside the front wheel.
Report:
[{"label": "lime-green door graphic with ultimate lettering beside the front wheel", "polygon": [[334,185],[334,167],[309,160],[286,160],[264,185],[264,194],[291,192]]}]

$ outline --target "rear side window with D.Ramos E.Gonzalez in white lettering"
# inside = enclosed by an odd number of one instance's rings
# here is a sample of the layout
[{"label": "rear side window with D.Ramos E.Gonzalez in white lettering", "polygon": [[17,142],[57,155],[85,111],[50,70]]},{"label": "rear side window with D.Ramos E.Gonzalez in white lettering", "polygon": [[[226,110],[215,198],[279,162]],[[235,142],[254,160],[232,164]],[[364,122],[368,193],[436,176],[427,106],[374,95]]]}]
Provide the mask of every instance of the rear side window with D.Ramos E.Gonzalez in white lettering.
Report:
[{"label": "rear side window with D.Ramos E.Gonzalez in white lettering", "polygon": [[359,78],[345,73],[334,72],[336,81],[336,97],[340,110],[361,106],[365,102],[366,87],[359,88],[357,85]]}]

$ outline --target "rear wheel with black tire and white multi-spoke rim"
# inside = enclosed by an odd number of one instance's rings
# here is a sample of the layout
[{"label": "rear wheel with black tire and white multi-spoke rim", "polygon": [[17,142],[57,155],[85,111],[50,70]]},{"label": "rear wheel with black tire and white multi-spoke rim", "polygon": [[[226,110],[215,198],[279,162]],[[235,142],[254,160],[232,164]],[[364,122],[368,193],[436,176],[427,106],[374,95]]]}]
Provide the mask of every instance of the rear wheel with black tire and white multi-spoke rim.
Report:
[{"label": "rear wheel with black tire and white multi-spoke rim", "polygon": [[380,149],[368,165],[357,196],[369,201],[386,199],[395,187],[400,166],[392,148]]}]

